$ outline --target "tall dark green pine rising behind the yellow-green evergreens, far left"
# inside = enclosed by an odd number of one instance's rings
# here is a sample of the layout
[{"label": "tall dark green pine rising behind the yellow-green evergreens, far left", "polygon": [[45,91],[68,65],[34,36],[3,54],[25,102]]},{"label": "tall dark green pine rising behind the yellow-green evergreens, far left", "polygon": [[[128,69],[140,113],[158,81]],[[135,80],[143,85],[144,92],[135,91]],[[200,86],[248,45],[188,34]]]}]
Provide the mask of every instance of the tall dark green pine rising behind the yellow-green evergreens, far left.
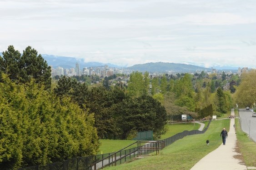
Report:
[{"label": "tall dark green pine rising behind the yellow-green evergreens, far left", "polygon": [[[1,57],[0,57],[1,58]],[[44,85],[45,89],[51,86],[51,69],[37,51],[28,46],[20,52],[12,45],[8,51],[3,52],[3,59],[0,59],[1,70],[9,76],[12,81],[21,83],[30,82],[34,79],[38,85]]]}]

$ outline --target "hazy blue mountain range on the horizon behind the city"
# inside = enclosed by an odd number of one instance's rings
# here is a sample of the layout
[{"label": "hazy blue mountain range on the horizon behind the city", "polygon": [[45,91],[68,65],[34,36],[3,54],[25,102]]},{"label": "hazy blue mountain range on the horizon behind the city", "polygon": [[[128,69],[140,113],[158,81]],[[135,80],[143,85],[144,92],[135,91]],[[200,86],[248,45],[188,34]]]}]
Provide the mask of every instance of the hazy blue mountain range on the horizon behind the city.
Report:
[{"label": "hazy blue mountain range on the horizon behind the city", "polygon": [[[2,53],[0,53],[2,56]],[[87,62],[85,63],[83,60],[76,59],[75,57],[65,57],[65,56],[56,56],[56,55],[47,55],[42,54],[42,57],[47,61],[48,65],[53,66],[54,68],[62,67],[65,69],[75,68],[75,63],[79,63],[80,69],[84,67],[100,67],[104,65],[108,65],[109,67],[115,68],[123,68],[119,65],[113,65],[110,63],[100,63],[100,62]],[[131,67],[125,67],[127,70],[134,70],[134,71],[141,71],[141,72],[180,72],[180,73],[189,73],[189,72],[196,72],[196,71],[211,71],[211,68],[200,67],[196,65],[187,65],[187,64],[178,64],[178,63],[164,63],[164,62],[157,62],[157,63],[146,63],[146,64],[137,64]],[[219,71],[231,71],[236,72],[238,68],[235,67],[215,67]]]}]

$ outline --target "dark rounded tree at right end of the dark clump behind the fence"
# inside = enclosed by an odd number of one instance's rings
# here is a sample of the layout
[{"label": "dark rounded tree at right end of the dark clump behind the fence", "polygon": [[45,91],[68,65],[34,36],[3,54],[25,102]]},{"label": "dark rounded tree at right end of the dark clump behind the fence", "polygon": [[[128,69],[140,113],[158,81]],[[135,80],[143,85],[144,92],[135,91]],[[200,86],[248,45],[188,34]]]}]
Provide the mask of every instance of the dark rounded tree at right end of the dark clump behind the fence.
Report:
[{"label": "dark rounded tree at right end of the dark clump behind the fence", "polygon": [[166,110],[152,96],[128,97],[118,105],[118,108],[120,109],[118,120],[120,120],[121,139],[126,139],[131,130],[153,130],[155,139],[165,132]]}]

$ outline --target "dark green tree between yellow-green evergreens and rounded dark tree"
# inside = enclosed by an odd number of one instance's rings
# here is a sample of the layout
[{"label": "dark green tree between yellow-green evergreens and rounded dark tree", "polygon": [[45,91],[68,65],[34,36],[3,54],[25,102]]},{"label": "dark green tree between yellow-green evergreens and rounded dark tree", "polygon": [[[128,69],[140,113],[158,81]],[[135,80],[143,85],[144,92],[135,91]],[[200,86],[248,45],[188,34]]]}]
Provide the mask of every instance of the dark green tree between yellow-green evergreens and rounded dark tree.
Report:
[{"label": "dark green tree between yellow-green evergreens and rounded dark tree", "polygon": [[[117,94],[121,93],[122,90]],[[120,103],[124,96],[122,94],[116,99],[114,91],[107,90],[103,86],[92,87],[88,91],[84,104],[89,113],[94,115],[95,127],[100,139],[115,139],[119,135],[120,132],[116,125],[118,120],[115,119],[115,113],[119,108],[115,104]],[[118,114],[120,114],[119,111]]]}]

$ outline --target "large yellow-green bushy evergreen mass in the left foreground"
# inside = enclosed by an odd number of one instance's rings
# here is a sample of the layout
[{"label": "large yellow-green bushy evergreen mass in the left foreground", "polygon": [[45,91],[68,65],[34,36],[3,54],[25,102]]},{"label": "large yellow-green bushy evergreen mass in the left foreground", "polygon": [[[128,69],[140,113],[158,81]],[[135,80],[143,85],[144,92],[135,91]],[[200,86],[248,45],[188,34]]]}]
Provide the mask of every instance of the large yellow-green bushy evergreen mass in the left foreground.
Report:
[{"label": "large yellow-green bushy evergreen mass in the left foreground", "polygon": [[95,155],[99,141],[93,115],[31,79],[0,83],[0,169],[45,165]]}]

